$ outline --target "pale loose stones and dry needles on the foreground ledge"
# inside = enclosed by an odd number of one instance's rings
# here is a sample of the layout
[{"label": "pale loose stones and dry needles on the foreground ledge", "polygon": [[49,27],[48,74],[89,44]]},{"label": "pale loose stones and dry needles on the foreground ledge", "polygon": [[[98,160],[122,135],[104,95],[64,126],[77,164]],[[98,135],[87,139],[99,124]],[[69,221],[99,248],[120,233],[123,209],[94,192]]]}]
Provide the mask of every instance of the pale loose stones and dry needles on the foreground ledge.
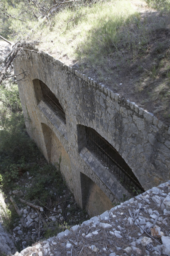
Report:
[{"label": "pale loose stones and dry needles on the foreground ledge", "polygon": [[14,256],[170,256],[170,181]]}]

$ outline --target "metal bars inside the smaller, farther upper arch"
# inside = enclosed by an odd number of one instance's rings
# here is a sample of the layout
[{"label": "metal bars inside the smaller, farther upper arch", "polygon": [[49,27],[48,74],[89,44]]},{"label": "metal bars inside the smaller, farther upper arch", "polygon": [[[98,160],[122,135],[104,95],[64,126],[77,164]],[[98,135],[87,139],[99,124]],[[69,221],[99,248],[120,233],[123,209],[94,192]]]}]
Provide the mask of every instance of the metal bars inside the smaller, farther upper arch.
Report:
[{"label": "metal bars inside the smaller, farther upper arch", "polygon": [[64,122],[66,122],[65,118],[65,112],[59,102],[59,100],[56,98],[54,93],[47,87],[45,83],[40,81],[42,95],[44,97],[44,100],[52,107],[52,110],[59,115]]}]

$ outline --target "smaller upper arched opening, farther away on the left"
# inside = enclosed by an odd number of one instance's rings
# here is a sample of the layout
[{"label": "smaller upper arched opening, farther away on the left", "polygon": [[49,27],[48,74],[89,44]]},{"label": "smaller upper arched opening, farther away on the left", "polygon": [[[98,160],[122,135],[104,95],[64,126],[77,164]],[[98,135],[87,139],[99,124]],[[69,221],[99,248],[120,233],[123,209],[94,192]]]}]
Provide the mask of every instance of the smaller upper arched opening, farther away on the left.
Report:
[{"label": "smaller upper arched opening, farther away on the left", "polygon": [[33,85],[37,104],[41,99],[43,99],[45,103],[48,104],[48,106],[51,108],[51,110],[54,111],[55,114],[62,119],[62,121],[66,122],[65,112],[58,98],[56,98],[48,86],[39,79],[34,79]]}]

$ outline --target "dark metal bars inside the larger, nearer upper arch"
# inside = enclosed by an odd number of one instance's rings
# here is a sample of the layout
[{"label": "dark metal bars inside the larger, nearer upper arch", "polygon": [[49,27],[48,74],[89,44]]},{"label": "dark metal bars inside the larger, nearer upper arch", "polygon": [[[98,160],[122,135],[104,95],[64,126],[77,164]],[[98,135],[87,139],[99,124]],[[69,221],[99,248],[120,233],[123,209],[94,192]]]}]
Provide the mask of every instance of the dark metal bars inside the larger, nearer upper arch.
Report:
[{"label": "dark metal bars inside the larger, nearer upper arch", "polygon": [[118,151],[97,131],[86,126],[87,146],[95,151],[127,185],[145,191]]}]

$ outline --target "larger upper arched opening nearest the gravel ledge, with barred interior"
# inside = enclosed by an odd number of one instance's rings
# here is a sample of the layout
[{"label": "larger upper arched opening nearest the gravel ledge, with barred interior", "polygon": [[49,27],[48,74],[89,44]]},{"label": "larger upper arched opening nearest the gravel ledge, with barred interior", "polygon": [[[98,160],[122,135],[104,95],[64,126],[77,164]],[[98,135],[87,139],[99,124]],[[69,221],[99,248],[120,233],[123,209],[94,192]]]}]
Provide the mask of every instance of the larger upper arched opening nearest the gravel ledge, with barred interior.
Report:
[{"label": "larger upper arched opening nearest the gravel ledge, with barred interior", "polygon": [[79,151],[83,146],[86,146],[95,156],[107,164],[109,170],[119,177],[122,184],[129,188],[145,191],[119,152],[96,130],[84,125],[78,125],[78,145]]}]

